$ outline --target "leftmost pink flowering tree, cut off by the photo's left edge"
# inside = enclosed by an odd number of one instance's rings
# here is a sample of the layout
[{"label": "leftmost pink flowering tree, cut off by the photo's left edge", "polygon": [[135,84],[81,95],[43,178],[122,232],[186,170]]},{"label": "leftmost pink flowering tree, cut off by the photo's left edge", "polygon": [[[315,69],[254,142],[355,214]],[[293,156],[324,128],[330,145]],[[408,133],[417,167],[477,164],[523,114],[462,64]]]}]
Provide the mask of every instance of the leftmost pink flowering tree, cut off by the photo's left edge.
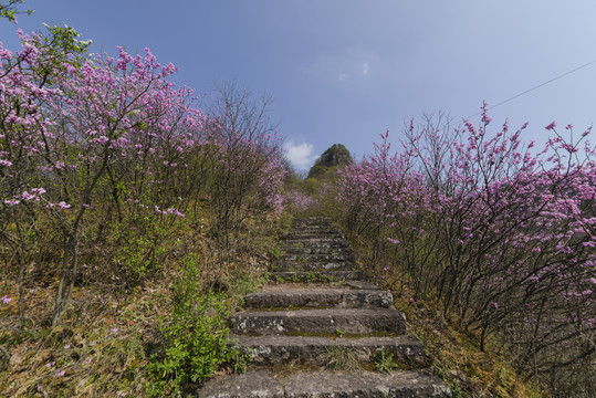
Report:
[{"label": "leftmost pink flowering tree, cut off by the photo's left edge", "polygon": [[76,62],[88,45],[77,40],[79,33],[72,28],[46,28],[46,35],[29,36],[19,30],[23,44],[14,53],[0,43],[0,238],[7,263],[19,264],[21,316],[24,265],[39,249],[36,221],[40,209],[48,205],[40,167],[46,161],[52,122],[45,119],[43,108],[59,92],[52,82],[59,71],[64,71],[62,64]]}]

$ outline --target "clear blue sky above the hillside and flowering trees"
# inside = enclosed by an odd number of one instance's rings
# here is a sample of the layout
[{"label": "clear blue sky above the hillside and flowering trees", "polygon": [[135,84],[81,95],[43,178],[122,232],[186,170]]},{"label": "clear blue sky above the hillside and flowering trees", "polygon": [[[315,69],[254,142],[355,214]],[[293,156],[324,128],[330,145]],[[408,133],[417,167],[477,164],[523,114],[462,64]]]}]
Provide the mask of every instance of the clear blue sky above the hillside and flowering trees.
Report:
[{"label": "clear blue sky above the hillside and flowering trees", "polygon": [[[115,54],[151,49],[198,93],[236,78],[270,108],[297,169],[335,143],[372,153],[387,128],[448,113],[456,123],[596,60],[594,0],[25,0],[18,27],[66,23]],[[15,49],[15,25],[0,41]],[[596,118],[596,63],[490,112],[493,123],[544,126]],[[478,122],[479,116],[472,118]],[[494,127],[496,128],[496,126]],[[563,130],[563,128],[562,128]]]}]

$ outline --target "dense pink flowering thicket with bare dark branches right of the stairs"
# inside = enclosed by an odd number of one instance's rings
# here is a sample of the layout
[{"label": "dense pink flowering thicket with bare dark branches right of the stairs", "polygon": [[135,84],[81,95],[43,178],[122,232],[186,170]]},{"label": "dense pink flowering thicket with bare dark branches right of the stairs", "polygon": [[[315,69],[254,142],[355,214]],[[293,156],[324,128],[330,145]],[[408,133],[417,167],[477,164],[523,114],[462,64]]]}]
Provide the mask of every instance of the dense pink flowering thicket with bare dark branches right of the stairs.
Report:
[{"label": "dense pink flowering thicket with bare dark branches right of the stairs", "polygon": [[535,153],[522,145],[526,126],[489,133],[485,108],[480,126],[428,122],[410,124],[399,151],[384,135],[374,156],[341,171],[347,226],[373,272],[410,281],[412,300],[439,300],[482,348],[499,334],[524,370],[586,366],[596,318],[590,130],[566,142],[552,124],[555,137]]}]

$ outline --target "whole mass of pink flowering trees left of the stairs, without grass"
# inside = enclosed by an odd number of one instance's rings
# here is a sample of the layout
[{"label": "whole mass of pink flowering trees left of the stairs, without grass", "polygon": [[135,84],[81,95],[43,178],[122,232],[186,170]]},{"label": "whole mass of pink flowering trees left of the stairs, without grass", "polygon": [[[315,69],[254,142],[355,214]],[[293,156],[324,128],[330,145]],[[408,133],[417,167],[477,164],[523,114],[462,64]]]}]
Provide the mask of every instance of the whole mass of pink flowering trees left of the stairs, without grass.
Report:
[{"label": "whole mass of pink flowering trees left of the stairs, without grass", "polygon": [[[0,48],[0,239],[21,281],[24,264],[60,259],[57,324],[85,272],[150,275],[165,227],[199,201],[226,243],[247,217],[274,213],[285,171],[264,107],[229,95],[206,116],[149,50],[85,55],[74,30],[51,29],[52,40],[20,32],[22,50]],[[98,252],[111,266],[90,271],[81,259]]]}]

